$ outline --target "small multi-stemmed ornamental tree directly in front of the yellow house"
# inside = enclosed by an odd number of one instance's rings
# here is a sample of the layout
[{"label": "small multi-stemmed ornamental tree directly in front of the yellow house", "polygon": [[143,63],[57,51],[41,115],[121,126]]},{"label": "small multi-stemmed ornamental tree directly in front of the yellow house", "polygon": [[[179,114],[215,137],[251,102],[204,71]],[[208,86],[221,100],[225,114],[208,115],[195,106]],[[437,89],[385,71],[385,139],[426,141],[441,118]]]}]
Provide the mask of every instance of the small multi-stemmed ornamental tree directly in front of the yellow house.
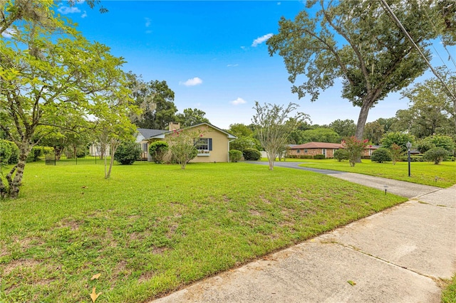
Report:
[{"label": "small multi-stemmed ornamental tree directly in front of the yellow house", "polygon": [[185,169],[187,163],[197,156],[198,150],[196,146],[202,136],[203,132],[200,129],[185,132],[182,129],[175,129],[167,137],[172,157],[180,164],[181,169]]}]

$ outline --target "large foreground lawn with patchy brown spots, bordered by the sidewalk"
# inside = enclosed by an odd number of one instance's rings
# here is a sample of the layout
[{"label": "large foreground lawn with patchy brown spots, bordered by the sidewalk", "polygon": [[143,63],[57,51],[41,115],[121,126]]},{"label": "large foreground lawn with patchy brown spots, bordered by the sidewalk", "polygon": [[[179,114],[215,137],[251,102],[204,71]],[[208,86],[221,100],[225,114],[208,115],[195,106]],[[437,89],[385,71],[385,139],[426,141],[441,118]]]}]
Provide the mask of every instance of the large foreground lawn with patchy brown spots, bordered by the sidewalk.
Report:
[{"label": "large foreground lawn with patchy brown spots, bordered by the sidewalk", "polygon": [[[143,302],[405,201],[252,164],[26,166],[0,202],[1,302]],[[98,280],[90,277],[100,273]]]}]

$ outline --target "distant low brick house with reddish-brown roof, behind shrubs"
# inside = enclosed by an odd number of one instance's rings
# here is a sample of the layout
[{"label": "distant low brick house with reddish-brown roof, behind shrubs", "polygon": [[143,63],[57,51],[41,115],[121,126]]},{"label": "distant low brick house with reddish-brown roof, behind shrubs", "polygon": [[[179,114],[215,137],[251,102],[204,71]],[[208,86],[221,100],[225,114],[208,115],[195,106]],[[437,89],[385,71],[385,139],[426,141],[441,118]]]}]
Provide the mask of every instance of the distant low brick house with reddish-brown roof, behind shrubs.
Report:
[{"label": "distant low brick house with reddish-brown roof, behind shrubs", "polygon": [[[371,156],[375,149],[378,149],[378,145],[368,145],[363,151],[363,156]],[[343,149],[343,145],[340,143],[326,143],[326,142],[309,142],[305,144],[289,146],[289,156],[315,156],[316,154],[324,154],[326,158],[333,158],[334,151]]]}]

